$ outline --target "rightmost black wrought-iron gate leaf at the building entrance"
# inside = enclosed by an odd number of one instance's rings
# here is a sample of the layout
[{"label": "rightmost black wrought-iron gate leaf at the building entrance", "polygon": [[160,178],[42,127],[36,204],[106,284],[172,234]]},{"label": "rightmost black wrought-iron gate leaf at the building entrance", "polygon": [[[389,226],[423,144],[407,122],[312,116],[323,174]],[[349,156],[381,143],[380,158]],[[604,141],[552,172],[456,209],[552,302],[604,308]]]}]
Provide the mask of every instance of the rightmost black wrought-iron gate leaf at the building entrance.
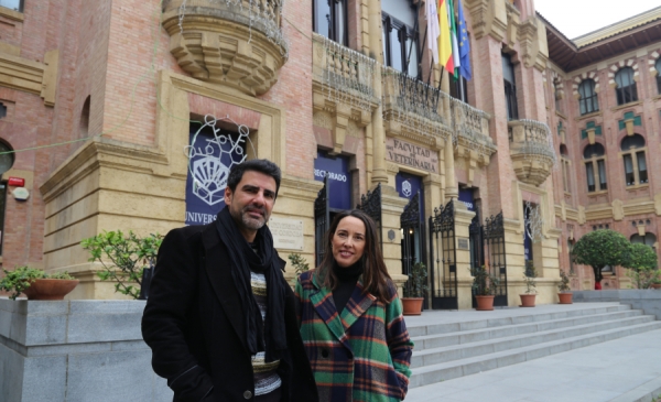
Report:
[{"label": "rightmost black wrought-iron gate leaf at the building entrance", "polygon": [[491,275],[498,276],[500,283],[496,286],[494,305],[507,306],[507,263],[505,252],[505,225],[502,211],[487,218],[483,229],[487,269]]}]

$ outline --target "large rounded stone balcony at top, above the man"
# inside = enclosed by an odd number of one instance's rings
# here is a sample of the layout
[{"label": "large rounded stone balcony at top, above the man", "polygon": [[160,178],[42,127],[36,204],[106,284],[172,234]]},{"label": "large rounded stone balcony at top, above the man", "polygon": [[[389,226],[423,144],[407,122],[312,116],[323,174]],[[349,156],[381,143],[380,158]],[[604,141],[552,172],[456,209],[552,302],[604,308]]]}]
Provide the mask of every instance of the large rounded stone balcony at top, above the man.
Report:
[{"label": "large rounded stone balcony at top, above the man", "polygon": [[193,77],[261,95],[288,58],[283,0],[164,0],[170,52]]}]

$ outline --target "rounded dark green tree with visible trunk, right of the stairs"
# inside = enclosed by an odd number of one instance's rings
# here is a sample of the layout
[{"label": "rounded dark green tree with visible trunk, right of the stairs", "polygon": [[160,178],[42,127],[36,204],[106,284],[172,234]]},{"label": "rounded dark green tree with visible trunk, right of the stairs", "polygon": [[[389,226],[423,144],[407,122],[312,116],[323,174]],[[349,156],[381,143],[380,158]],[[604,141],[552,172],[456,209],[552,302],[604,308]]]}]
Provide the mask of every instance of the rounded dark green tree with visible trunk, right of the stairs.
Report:
[{"label": "rounded dark green tree with visible trunk, right of the stairs", "polygon": [[630,246],[629,240],[621,233],[615,230],[599,229],[578,239],[572,250],[572,256],[576,263],[593,268],[595,281],[598,283],[602,282],[604,267],[626,263]]}]

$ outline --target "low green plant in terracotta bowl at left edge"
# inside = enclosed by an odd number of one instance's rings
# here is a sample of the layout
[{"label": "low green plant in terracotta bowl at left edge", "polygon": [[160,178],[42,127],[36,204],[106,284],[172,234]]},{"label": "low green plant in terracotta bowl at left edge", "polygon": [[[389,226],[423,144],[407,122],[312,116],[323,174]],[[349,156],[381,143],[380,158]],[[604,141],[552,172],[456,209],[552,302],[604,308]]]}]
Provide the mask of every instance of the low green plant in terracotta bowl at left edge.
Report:
[{"label": "low green plant in terracotta bowl at left edge", "polygon": [[63,300],[78,284],[78,280],[67,272],[47,274],[30,267],[2,271],[4,278],[0,280],[0,290],[11,292],[11,300],[17,300],[21,293],[29,300]]}]

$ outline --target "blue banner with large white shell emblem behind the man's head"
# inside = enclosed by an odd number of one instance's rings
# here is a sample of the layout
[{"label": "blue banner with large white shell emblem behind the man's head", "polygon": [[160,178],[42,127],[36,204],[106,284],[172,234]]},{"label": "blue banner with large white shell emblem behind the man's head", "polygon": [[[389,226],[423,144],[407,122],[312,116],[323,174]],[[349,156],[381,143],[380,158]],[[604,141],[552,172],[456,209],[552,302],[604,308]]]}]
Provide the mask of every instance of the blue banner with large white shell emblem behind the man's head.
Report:
[{"label": "blue banner with large white shell emblem behind the man's head", "polygon": [[191,124],[186,149],[186,225],[206,225],[216,220],[225,207],[225,187],[232,165],[245,160],[246,137],[212,126]]}]

